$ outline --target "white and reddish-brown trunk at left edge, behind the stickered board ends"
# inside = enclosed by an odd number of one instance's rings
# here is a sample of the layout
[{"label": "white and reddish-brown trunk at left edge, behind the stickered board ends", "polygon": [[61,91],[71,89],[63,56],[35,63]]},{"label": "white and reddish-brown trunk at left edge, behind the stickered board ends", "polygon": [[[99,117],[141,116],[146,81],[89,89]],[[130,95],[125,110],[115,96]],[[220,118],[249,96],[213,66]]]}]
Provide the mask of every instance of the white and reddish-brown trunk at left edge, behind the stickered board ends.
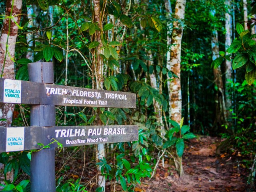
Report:
[{"label": "white and reddish-brown trunk at left edge, behind the stickered board ends", "polygon": [[[14,79],[14,53],[16,38],[18,34],[18,26],[15,24],[20,24],[22,10],[22,0],[6,0],[6,12],[5,19],[2,27],[1,37],[0,37],[0,72],[1,78]],[[8,18],[12,17],[12,19]],[[6,119],[0,121],[0,126],[11,126],[12,124],[12,114],[14,110],[14,104],[0,104],[0,119]],[[0,169],[3,165],[0,164]],[[1,170],[2,172],[2,170]],[[13,180],[13,174],[9,173],[6,176],[7,180]],[[4,178],[1,176],[0,182]]]}]

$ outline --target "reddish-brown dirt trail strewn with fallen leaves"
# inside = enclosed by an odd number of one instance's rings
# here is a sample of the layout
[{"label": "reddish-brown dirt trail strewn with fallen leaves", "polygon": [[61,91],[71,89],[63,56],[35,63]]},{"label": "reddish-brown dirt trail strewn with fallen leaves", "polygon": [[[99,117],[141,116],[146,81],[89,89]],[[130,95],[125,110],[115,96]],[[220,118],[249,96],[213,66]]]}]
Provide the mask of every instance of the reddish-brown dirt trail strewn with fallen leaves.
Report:
[{"label": "reddish-brown dirt trail strewn with fallen leaves", "polygon": [[201,136],[186,143],[185,176],[178,179],[174,166],[161,165],[154,179],[144,180],[137,191],[144,192],[241,192],[246,172],[235,159],[216,156],[219,138]]}]

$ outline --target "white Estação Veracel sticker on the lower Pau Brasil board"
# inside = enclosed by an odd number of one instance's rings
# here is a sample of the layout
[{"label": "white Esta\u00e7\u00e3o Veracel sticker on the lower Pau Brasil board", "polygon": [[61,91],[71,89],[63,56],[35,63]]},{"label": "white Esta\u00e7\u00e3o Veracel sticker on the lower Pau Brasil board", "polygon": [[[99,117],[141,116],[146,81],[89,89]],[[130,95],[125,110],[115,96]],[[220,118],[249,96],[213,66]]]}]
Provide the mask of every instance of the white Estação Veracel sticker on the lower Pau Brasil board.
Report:
[{"label": "white Esta\u00e7\u00e3o Veracel sticker on the lower Pau Brasil board", "polygon": [[24,150],[24,127],[6,128],[6,152]]}]

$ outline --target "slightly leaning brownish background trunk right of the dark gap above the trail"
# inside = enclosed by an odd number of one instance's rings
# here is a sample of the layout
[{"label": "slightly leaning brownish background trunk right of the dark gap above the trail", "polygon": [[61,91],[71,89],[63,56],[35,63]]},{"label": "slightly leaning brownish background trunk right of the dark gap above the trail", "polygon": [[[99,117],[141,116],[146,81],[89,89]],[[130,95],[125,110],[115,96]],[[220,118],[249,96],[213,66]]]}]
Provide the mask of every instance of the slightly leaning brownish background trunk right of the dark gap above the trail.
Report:
[{"label": "slightly leaning brownish background trunk right of the dark gap above the trail", "polygon": [[[213,31],[212,34],[212,60],[218,58],[219,55],[219,45],[218,45],[218,32],[217,30]],[[216,118],[215,121],[218,126],[222,124],[226,124],[226,106],[224,100],[224,87],[222,82],[222,73],[220,70],[220,66],[218,68],[214,68],[214,82],[218,88],[215,98],[216,103]]]}]

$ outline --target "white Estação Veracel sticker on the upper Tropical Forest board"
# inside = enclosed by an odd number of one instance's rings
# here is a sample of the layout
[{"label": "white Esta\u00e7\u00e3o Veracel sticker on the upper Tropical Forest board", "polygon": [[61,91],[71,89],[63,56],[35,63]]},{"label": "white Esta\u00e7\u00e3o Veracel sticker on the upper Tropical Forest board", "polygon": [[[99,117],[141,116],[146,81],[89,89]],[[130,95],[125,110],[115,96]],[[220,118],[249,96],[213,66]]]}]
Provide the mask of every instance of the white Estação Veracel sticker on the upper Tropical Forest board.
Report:
[{"label": "white Esta\u00e7\u00e3o Veracel sticker on the upper Tropical Forest board", "polygon": [[4,103],[21,103],[21,81],[4,80]]}]

